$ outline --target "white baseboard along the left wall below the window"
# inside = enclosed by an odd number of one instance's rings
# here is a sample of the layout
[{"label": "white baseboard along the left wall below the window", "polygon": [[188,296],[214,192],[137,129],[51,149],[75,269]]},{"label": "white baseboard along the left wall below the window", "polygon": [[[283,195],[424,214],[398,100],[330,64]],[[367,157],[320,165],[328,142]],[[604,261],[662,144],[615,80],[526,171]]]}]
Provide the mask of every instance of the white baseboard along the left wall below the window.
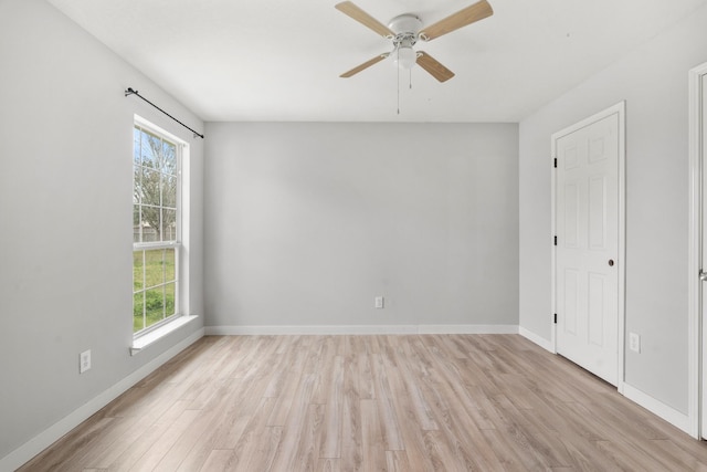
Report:
[{"label": "white baseboard along the left wall below the window", "polygon": [[201,328],[193,333],[191,336],[184,338],[182,342],[172,346],[148,364],[144,365],[123,380],[115,384],[107,390],[98,394],[93,399],[88,400],[85,405],[68,413],[59,422],[52,424],[40,434],[29,440],[14,451],[10,452],[4,458],[0,459],[0,471],[13,471],[20,468],[22,464],[31,460],[33,457],[42,452],[44,449],[52,445],[56,440],[66,434],[72,429],[76,428],[83,421],[88,419],[92,415],[101,410],[103,407],[115,400],[118,396],[124,394],[127,389],[143,380],[145,377],[157,370],[160,366],[175,357],[177,354],[189,347],[191,344],[199,340],[204,336],[204,329]]}]

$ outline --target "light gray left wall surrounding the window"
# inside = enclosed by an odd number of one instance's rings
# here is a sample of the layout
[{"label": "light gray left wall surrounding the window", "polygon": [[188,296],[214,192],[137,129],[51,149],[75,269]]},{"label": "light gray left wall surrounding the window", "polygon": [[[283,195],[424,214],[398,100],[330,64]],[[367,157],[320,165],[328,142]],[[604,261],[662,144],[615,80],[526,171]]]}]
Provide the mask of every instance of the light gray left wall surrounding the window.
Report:
[{"label": "light gray left wall surrounding the window", "polygon": [[[192,144],[191,312],[203,313],[202,123],[52,7],[0,2],[0,459],[201,328],[130,357],[138,113]],[[78,353],[93,368],[78,375]]]}]

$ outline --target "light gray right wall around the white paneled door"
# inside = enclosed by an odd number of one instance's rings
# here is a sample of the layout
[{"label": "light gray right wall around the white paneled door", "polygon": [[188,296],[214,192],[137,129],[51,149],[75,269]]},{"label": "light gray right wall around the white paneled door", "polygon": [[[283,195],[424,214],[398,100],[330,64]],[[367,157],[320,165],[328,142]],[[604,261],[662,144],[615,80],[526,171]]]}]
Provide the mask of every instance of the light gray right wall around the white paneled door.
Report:
[{"label": "light gray right wall around the white paneled door", "polygon": [[[520,123],[520,325],[550,339],[550,135],[626,101],[625,381],[687,412],[687,72],[707,7]],[[559,66],[559,64],[558,64]],[[626,343],[627,345],[627,343]]]}]

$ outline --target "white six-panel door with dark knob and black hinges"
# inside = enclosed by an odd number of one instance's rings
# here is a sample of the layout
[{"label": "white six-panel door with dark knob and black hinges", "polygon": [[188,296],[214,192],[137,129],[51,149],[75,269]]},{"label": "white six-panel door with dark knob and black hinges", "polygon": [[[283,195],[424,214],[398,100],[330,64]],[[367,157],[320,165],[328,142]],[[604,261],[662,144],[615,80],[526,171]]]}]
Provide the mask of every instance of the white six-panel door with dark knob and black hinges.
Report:
[{"label": "white six-panel door with dark knob and black hinges", "polygon": [[599,116],[552,136],[557,158],[556,346],[558,354],[618,385],[623,114]]}]

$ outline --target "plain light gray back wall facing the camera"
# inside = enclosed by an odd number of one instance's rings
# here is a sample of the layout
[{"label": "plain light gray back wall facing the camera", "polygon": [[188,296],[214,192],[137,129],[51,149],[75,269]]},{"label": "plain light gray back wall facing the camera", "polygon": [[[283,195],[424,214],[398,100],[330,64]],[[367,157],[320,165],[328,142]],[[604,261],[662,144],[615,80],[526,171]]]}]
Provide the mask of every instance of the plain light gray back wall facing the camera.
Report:
[{"label": "plain light gray back wall facing the camera", "polygon": [[207,325],[518,324],[517,125],[207,134]]}]

